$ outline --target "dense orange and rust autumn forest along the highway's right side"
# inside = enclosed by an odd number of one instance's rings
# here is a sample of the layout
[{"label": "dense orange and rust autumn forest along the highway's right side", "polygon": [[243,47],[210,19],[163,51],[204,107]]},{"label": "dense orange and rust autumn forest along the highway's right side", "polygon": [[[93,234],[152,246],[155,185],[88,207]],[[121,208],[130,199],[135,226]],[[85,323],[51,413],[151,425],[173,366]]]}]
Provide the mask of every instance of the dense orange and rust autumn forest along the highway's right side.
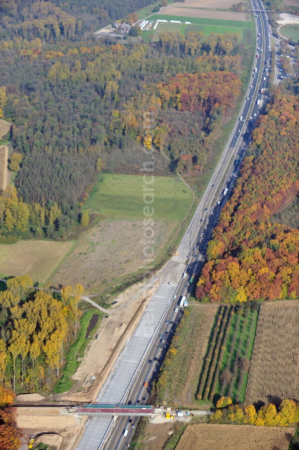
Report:
[{"label": "dense orange and rust autumn forest along the highway's right side", "polygon": [[298,97],[277,90],[208,244],[196,286],[201,301],[298,297],[299,230],[271,220],[299,193],[298,123]]}]

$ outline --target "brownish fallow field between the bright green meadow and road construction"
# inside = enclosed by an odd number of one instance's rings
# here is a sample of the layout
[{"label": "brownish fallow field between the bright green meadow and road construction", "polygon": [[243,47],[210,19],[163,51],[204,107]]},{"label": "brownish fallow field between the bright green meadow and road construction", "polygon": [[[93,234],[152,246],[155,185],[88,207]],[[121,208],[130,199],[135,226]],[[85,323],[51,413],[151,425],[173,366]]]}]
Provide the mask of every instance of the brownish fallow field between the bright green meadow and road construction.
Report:
[{"label": "brownish fallow field between the bright green meadow and road construction", "polygon": [[[158,256],[178,222],[156,220],[154,250]],[[143,266],[143,221],[102,219],[81,234],[52,277],[52,283],[80,283],[89,293]]]}]

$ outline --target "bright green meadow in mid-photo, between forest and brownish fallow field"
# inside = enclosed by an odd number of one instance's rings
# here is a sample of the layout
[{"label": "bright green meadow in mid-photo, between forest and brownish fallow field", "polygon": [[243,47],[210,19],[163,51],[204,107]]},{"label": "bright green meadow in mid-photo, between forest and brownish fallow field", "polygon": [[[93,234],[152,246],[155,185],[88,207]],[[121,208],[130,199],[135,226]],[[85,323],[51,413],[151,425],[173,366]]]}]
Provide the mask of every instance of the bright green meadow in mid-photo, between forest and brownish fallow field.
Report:
[{"label": "bright green meadow in mid-photo, between forest and brownish fallow field", "polygon": [[[153,184],[154,219],[183,220],[192,203],[192,193],[178,177],[155,176]],[[150,201],[150,198],[146,198]],[[102,216],[144,217],[143,177],[139,175],[101,174],[84,208]]]}]

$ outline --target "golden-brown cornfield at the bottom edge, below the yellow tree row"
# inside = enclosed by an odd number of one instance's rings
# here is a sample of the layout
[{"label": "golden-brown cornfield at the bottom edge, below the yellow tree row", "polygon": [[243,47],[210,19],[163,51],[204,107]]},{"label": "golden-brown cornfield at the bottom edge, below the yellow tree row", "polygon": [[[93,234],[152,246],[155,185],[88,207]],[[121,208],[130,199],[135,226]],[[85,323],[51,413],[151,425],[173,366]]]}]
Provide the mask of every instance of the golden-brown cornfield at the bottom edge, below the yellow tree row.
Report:
[{"label": "golden-brown cornfield at the bottom edge, below the yellow tree row", "polygon": [[176,450],[287,450],[295,428],[188,425]]}]

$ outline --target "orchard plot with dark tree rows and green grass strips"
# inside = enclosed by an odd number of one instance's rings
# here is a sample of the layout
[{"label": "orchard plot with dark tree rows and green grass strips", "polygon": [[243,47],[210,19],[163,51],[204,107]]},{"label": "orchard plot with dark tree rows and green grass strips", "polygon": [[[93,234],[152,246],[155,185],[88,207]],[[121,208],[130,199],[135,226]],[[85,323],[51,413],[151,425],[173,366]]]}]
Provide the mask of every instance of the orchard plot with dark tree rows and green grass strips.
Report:
[{"label": "orchard plot with dark tree rows and green grass strips", "polygon": [[243,402],[254,344],[258,311],[248,306],[222,306],[219,309],[205,352],[197,398],[216,403],[229,396]]}]

